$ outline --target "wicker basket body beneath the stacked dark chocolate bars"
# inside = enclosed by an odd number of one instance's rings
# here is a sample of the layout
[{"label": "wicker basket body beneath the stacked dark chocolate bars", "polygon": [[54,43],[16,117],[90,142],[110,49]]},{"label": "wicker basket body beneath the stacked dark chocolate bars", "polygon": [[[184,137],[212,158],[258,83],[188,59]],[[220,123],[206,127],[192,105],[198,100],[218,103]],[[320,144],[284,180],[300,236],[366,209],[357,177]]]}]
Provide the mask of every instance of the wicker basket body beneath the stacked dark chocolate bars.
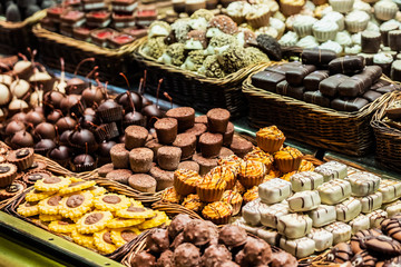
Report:
[{"label": "wicker basket body beneath the stacked dark chocolate bars", "polygon": [[251,77],[244,81],[243,92],[248,99],[253,127],[276,125],[292,139],[352,156],[362,156],[372,149],[370,120],[390,95],[358,112],[342,112],[258,89],[252,85]]}]

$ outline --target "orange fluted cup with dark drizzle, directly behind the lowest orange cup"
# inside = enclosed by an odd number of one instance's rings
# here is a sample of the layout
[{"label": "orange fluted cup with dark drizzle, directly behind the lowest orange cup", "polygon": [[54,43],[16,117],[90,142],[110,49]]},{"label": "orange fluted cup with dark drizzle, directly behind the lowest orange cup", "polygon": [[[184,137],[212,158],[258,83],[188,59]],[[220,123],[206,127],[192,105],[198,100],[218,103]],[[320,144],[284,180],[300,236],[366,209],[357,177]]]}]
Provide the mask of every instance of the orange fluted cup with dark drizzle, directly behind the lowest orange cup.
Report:
[{"label": "orange fluted cup with dark drizzle, directly behind the lowest orange cup", "polygon": [[[229,169],[227,169],[229,171]],[[211,171],[207,174],[196,187],[196,192],[199,199],[205,202],[218,201],[224,190],[227,188],[227,182],[223,178],[224,172]]]}]

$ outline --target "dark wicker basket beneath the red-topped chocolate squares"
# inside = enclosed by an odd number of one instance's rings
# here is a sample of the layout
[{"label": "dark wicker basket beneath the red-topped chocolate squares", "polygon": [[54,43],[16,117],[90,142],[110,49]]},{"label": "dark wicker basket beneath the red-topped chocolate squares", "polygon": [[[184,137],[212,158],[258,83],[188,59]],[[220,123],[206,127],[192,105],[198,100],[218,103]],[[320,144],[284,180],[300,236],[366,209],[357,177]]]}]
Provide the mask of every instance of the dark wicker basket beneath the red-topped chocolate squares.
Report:
[{"label": "dark wicker basket beneath the red-topped chocolate squares", "polygon": [[[41,60],[51,68],[60,69],[60,58],[63,58],[66,71],[74,72],[81,60],[95,58],[95,65],[99,67],[99,78],[117,86],[126,85],[119,72],[127,76],[128,73],[130,76],[139,73],[138,65],[130,57],[137,47],[138,40],[119,49],[108,49],[48,31],[40,24],[37,24],[32,31],[38,38]],[[87,76],[95,65],[82,65],[78,73]]]}]

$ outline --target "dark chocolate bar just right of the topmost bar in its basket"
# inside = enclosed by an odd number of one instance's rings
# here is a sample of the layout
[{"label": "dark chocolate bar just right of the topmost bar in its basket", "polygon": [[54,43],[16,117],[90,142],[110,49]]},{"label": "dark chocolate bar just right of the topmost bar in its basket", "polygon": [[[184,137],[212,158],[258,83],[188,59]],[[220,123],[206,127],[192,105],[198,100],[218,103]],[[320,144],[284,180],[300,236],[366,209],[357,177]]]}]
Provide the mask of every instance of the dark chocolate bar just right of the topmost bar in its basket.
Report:
[{"label": "dark chocolate bar just right of the topmost bar in its basket", "polygon": [[363,70],[364,59],[361,56],[345,56],[333,59],[329,63],[330,73],[354,75]]}]

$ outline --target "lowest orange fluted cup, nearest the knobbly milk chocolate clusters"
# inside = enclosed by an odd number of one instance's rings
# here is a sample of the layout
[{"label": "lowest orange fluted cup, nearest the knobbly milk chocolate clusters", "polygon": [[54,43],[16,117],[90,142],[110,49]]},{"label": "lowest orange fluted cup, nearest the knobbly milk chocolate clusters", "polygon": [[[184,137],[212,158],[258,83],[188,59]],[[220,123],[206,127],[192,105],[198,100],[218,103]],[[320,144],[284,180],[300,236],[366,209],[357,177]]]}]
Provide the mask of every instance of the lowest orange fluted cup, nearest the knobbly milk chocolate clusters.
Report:
[{"label": "lowest orange fluted cup, nearest the knobbly milk chocolate clusters", "polygon": [[202,210],[202,215],[216,225],[226,225],[233,215],[233,207],[229,204],[216,201],[207,205]]}]

